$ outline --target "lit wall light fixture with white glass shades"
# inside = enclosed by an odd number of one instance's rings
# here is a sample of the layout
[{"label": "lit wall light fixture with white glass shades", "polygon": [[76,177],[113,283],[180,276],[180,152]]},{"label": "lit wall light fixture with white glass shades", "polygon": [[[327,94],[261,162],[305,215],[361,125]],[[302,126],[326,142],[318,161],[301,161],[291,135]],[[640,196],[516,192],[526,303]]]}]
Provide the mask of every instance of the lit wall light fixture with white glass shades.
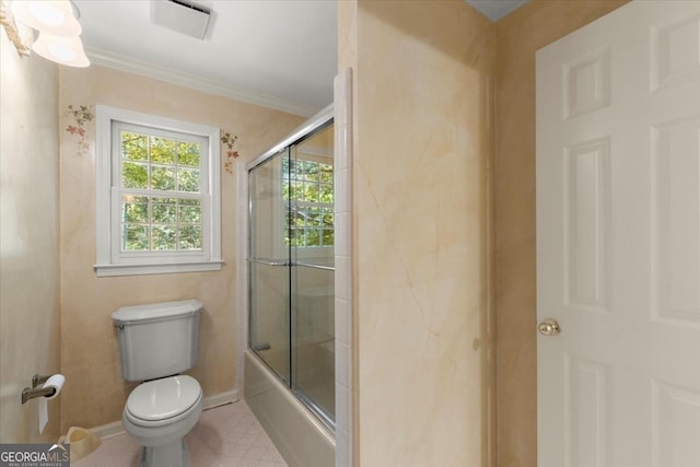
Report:
[{"label": "lit wall light fixture with white glass shades", "polygon": [[[88,67],[90,60],[80,40],[80,11],[70,0],[13,0],[8,11],[0,1],[0,23],[21,56],[30,50],[69,67]],[[27,32],[28,30],[28,32]],[[34,40],[34,31],[38,37]]]}]

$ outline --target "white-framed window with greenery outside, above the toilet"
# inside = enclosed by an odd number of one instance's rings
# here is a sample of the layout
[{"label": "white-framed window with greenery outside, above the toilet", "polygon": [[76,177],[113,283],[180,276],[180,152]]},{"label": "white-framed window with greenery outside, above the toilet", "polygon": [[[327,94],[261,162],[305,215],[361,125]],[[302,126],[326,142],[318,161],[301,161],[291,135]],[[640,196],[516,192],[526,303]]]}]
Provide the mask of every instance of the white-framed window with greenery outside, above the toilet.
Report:
[{"label": "white-framed window with greenery outside, above the toilet", "polygon": [[218,137],[97,106],[97,276],[221,269]]}]

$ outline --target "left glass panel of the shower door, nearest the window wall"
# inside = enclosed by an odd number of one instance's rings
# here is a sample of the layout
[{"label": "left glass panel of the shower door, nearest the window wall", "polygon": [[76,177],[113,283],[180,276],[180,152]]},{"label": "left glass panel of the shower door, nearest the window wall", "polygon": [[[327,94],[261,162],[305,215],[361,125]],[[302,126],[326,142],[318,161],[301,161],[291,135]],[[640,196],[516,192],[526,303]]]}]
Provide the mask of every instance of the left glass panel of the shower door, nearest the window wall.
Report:
[{"label": "left glass panel of the shower door, nearest the window wall", "polygon": [[290,260],[283,241],[280,183],[289,150],[248,173],[250,348],[287,384],[291,384]]}]

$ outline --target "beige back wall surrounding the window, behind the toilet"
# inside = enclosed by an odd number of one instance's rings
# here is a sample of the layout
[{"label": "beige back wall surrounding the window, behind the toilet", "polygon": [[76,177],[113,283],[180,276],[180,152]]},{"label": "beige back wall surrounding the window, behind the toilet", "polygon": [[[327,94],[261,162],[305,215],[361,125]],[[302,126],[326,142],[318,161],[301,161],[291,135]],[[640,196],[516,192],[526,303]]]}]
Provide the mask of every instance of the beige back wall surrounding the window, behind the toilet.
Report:
[{"label": "beige back wall surrounding the window, behind the toilet", "polygon": [[[300,125],[299,116],[203,94],[147,78],[92,66],[61,68],[60,110],[104,104],[221,127],[238,136],[236,149],[253,159]],[[94,107],[92,107],[94,110]],[[62,120],[63,126],[68,120]],[[61,131],[60,250],[61,367],[67,384],[61,424],[95,427],[120,420],[132,385],[122,382],[110,313],[119,306],[196,297],[203,302],[199,363],[191,374],[205,396],[232,390],[236,371],[235,174],[222,170],[221,271],[96,278],[94,125],[90,151]],[[225,154],[222,154],[225,160]],[[223,161],[222,161],[223,163]]]}]

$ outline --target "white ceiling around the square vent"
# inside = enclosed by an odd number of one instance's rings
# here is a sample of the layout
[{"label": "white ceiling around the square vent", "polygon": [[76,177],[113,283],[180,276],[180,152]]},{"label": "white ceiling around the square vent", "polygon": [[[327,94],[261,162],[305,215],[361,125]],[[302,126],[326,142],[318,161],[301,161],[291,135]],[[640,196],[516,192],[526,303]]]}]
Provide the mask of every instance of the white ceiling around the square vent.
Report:
[{"label": "white ceiling around the square vent", "polygon": [[[524,3],[466,1],[492,21]],[[203,39],[154,24],[149,0],[74,0],[93,63],[304,116],[331,103],[336,0],[191,2],[211,10]]]}]

